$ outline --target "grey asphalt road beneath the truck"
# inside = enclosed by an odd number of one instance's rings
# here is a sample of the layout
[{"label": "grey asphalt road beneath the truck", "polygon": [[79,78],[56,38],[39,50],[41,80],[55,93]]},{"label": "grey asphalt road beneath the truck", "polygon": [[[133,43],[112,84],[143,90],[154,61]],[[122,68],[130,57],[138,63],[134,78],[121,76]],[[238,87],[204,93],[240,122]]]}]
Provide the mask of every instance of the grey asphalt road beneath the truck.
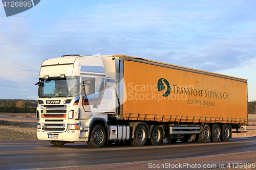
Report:
[{"label": "grey asphalt road beneath the truck", "polygon": [[[251,158],[252,153],[256,155],[254,151],[256,151],[256,137],[230,139],[228,142],[177,142],[143,147],[113,144],[99,149],[89,148],[84,143],[67,143],[62,147],[54,147],[48,141],[0,141],[0,169],[99,169],[97,167],[106,168],[125,163],[136,164],[136,166],[144,164],[140,166],[141,169],[148,169],[148,162],[168,162],[190,158],[204,158],[209,162],[212,160],[210,156],[218,158],[221,155],[227,158],[230,154],[246,153],[249,153]],[[140,169],[136,166],[118,167],[119,169]],[[109,169],[113,168],[116,169],[116,167],[109,167]]]}]

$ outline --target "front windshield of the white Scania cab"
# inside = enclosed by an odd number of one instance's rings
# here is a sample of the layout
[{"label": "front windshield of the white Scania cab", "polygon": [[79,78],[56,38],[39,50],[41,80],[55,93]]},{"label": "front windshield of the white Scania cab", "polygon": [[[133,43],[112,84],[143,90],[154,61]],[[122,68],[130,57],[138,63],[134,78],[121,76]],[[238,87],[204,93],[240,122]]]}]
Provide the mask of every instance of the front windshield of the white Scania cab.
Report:
[{"label": "front windshield of the white Scania cab", "polygon": [[75,97],[79,95],[79,77],[53,78],[40,81],[39,98]]}]

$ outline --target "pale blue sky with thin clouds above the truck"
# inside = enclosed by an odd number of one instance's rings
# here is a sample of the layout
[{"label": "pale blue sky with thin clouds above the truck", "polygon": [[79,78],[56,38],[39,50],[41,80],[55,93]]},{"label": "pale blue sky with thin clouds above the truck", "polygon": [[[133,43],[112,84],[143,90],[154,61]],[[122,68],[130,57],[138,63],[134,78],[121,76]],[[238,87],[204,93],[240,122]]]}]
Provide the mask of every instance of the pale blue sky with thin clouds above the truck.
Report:
[{"label": "pale blue sky with thin clouds above the truck", "polygon": [[255,1],[48,1],[6,17],[0,99],[36,99],[42,60],[129,55],[248,79],[256,100]]}]

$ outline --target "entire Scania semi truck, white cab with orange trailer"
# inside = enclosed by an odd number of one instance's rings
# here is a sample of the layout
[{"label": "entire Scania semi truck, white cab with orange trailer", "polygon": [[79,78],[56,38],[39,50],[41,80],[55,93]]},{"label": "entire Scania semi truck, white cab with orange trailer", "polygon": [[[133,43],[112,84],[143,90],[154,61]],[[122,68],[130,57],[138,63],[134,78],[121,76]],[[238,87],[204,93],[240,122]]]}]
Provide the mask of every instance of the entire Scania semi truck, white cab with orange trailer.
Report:
[{"label": "entire Scania semi truck, white cab with orange trailer", "polygon": [[142,58],[48,59],[35,85],[37,138],[54,145],[228,141],[248,124],[246,79]]}]

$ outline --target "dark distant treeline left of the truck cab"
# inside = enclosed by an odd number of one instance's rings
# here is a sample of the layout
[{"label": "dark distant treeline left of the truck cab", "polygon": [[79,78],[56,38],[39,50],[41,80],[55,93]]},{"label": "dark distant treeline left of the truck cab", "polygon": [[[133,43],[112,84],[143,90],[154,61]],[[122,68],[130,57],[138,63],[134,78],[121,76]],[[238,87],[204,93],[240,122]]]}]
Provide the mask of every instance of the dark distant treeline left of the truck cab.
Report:
[{"label": "dark distant treeline left of the truck cab", "polygon": [[37,101],[22,99],[0,99],[0,112],[35,113]]}]

